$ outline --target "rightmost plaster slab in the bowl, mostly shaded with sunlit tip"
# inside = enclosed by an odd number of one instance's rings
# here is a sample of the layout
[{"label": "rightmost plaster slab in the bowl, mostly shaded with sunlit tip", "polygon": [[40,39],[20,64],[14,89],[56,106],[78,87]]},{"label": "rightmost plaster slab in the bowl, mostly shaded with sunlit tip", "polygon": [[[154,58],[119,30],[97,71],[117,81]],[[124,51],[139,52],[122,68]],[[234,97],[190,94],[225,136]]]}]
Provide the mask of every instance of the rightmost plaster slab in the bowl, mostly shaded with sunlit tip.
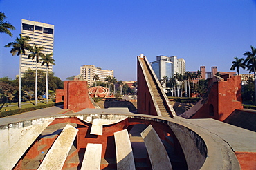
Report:
[{"label": "rightmost plaster slab in the bowl, mostly shaded with sunlit tip", "polygon": [[147,153],[149,154],[152,169],[172,169],[172,164],[165,147],[152,125],[149,125],[143,132],[141,132],[141,136],[143,137],[145,146],[147,147]]}]

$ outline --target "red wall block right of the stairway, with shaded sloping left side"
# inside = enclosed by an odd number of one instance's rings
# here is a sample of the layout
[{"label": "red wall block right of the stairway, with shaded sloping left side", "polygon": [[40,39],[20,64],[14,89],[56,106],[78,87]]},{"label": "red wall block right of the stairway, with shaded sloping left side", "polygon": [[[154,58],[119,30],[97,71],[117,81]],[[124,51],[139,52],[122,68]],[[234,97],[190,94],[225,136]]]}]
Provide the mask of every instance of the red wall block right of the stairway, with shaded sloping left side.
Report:
[{"label": "red wall block right of the stairway, with shaded sloping left side", "polygon": [[[214,118],[225,120],[235,109],[243,109],[241,105],[241,76],[224,77],[215,81],[208,102],[196,112],[192,118]],[[210,112],[213,110],[213,116]]]}]

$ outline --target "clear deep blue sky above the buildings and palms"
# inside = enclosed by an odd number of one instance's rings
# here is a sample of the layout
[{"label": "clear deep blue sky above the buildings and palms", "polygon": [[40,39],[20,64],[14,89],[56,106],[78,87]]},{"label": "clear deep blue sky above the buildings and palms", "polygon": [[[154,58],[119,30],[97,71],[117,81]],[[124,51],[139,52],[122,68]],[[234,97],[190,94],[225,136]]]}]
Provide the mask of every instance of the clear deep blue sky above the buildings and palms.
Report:
[{"label": "clear deep blue sky above the buildings and palms", "polygon": [[[136,56],[177,56],[187,71],[230,71],[235,56],[256,47],[255,0],[0,0],[16,30],[0,34],[0,77],[15,78],[19,57],[3,47],[19,36],[21,19],[55,25],[55,76],[66,80],[81,65],[136,80]],[[247,71],[241,71],[248,73]]]}]

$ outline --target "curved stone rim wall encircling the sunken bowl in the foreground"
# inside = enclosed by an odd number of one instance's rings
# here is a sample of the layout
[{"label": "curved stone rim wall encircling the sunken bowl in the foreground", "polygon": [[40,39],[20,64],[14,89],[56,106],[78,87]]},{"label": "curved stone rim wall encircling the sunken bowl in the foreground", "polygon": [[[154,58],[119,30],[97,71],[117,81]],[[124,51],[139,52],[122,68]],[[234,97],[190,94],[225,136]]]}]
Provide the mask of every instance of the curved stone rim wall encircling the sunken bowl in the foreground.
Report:
[{"label": "curved stone rim wall encircling the sunken bowl in the foreground", "polygon": [[[97,110],[98,113],[95,113]],[[4,153],[1,157],[4,158],[5,156],[8,156],[8,159],[10,159],[10,155],[8,155],[8,153],[12,150],[12,147],[15,146],[15,143],[17,145],[17,142],[24,142],[21,141],[24,139],[22,138],[22,134],[19,135],[20,131],[33,127],[35,124],[45,124],[46,122],[48,123],[56,118],[78,118],[79,120],[86,121],[87,123],[93,123],[93,120],[95,119],[105,119],[111,120],[113,123],[120,120],[124,127],[129,127],[129,125],[136,125],[138,123],[152,125],[158,132],[161,139],[161,131],[159,131],[159,129],[162,129],[165,132],[168,131],[169,133],[169,127],[174,133],[175,138],[179,140],[179,145],[181,145],[188,169],[239,169],[235,153],[230,149],[228,144],[216,134],[212,134],[210,131],[203,129],[203,127],[199,127],[194,123],[191,123],[190,120],[185,120],[179,117],[163,118],[158,116],[131,114],[129,112],[116,113],[118,109],[112,112],[109,111],[109,113],[102,113],[100,110],[101,109],[89,109],[89,111],[80,111],[76,114],[34,118],[22,122],[3,125],[0,127],[1,144],[8,142],[9,139],[15,139],[16,141],[13,145],[6,145],[4,151],[1,151],[1,153]],[[42,127],[41,131],[44,128],[45,127]],[[10,133],[10,131],[12,132]],[[17,133],[15,133],[15,131]],[[40,131],[38,133],[41,134]],[[26,148],[29,148],[31,143],[26,143],[26,145]],[[16,157],[21,158],[23,154],[24,152],[19,153],[19,156]],[[9,162],[3,162],[3,159],[0,159],[0,167],[14,167],[15,164],[17,164],[17,162],[10,164]]]}]

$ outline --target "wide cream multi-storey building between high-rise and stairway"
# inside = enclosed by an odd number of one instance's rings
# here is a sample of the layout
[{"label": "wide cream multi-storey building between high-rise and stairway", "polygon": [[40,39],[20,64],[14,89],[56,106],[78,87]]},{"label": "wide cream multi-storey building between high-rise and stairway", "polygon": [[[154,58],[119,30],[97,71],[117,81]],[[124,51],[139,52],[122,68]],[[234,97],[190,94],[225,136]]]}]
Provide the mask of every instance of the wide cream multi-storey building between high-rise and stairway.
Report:
[{"label": "wide cream multi-storey building between high-rise and stairway", "polygon": [[88,85],[93,85],[93,77],[98,75],[100,80],[104,82],[107,76],[113,77],[113,70],[102,70],[100,67],[95,67],[94,65],[82,65],[80,67],[80,74],[82,74],[85,81],[88,82]]}]

